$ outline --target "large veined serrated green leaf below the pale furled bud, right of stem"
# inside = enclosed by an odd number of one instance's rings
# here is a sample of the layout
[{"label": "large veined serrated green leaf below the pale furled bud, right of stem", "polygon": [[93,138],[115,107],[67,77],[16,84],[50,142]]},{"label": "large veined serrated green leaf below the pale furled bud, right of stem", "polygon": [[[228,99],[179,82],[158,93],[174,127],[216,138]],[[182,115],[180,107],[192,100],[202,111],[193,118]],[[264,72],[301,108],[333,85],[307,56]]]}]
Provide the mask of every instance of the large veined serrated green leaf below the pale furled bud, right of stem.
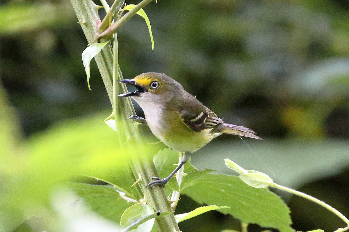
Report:
[{"label": "large veined serrated green leaf below the pale furled bud, right of stem", "polygon": [[246,185],[237,176],[205,174],[187,186],[183,194],[207,205],[225,205],[230,209],[219,209],[245,223],[272,227],[281,232],[291,232],[290,210],[275,193],[263,188]]}]

